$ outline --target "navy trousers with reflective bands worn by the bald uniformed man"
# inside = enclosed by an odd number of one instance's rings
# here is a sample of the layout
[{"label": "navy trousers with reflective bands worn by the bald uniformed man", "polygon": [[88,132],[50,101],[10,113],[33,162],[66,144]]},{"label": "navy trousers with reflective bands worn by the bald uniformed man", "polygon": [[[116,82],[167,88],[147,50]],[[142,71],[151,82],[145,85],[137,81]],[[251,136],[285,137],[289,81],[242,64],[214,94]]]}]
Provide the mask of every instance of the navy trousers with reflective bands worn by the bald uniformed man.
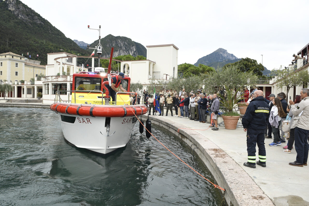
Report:
[{"label": "navy trousers with reflective bands worn by the bald uniformed man", "polygon": [[259,161],[262,164],[266,164],[266,150],[264,140],[264,130],[256,131],[250,128],[247,129],[247,152],[249,164],[256,164],[256,144],[259,148]]}]

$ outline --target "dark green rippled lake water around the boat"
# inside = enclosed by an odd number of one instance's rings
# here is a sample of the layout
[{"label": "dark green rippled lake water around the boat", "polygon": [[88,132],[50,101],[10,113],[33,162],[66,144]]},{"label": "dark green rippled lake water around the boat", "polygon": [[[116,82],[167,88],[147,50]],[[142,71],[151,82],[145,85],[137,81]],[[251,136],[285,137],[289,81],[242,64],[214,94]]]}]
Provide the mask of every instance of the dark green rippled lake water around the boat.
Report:
[{"label": "dark green rippled lake water around the boat", "polygon": [[[0,107],[0,205],[219,205],[219,189],[180,162],[139,124],[123,149],[100,155],[64,140],[50,109]],[[176,135],[152,133],[205,178]]]}]

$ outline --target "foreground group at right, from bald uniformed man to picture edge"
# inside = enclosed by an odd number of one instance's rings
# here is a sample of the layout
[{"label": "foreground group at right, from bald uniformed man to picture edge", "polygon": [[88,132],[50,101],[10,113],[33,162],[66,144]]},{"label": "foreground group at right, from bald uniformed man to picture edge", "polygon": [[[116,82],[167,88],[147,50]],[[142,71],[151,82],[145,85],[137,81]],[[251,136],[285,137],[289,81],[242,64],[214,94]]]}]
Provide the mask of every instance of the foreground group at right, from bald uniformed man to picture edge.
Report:
[{"label": "foreground group at right, from bald uniformed man to picture edge", "polygon": [[[283,152],[291,153],[293,144],[297,152],[296,161],[289,165],[307,165],[309,141],[309,89],[303,88],[295,101],[287,103],[286,94],[270,94],[267,100],[261,90],[255,90],[242,118],[244,131],[247,132],[248,161],[243,165],[256,168],[256,164],[266,167],[265,138],[272,139],[269,146],[281,146]],[[248,102],[247,102],[248,103]],[[283,129],[285,126],[285,129]],[[289,131],[289,132],[288,132]],[[281,134],[280,134],[281,133]],[[272,137],[273,135],[273,137]],[[286,139],[288,142],[286,142]],[[259,161],[256,162],[256,145],[259,148]]]}]

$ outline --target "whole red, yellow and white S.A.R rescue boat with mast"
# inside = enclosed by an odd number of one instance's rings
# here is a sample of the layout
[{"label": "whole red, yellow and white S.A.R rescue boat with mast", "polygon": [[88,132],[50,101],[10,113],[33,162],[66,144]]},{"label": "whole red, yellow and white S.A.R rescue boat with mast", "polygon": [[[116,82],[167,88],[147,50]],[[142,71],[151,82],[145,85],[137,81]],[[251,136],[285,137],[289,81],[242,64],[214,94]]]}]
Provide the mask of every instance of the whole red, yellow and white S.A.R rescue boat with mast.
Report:
[{"label": "whole red, yellow and white S.A.R rescue boat with mast", "polygon": [[[99,38],[99,45],[95,47],[99,57],[101,48]],[[50,105],[50,109],[59,116],[66,141],[78,148],[102,154],[125,147],[138,116],[148,112],[146,105],[138,105],[138,101],[130,102],[130,95],[134,95],[136,100],[141,97],[141,103],[144,102],[144,95],[129,92],[128,76],[121,80],[127,92],[117,92],[115,101],[112,101],[105,86],[111,86],[112,77],[118,75],[111,73],[112,53],[113,48],[107,73],[104,68],[95,67],[88,72],[73,74],[72,90],[57,91],[56,101]],[[63,92],[72,93],[70,102],[61,101],[60,94]]]}]

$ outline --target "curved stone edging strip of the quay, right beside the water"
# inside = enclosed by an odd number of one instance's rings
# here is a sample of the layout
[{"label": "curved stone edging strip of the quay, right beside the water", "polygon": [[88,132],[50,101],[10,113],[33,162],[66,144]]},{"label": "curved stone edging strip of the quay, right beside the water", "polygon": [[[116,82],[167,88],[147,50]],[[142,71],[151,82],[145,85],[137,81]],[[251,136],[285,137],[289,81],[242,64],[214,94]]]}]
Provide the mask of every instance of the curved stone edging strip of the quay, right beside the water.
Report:
[{"label": "curved stone edging strip of the quay, right beside the water", "polygon": [[[147,115],[142,115],[147,119]],[[194,151],[201,158],[218,186],[226,189],[225,199],[228,205],[274,205],[272,200],[265,195],[252,178],[216,144],[194,130],[180,129],[184,125],[175,122],[166,122],[162,118],[149,116],[151,123],[161,126],[178,135],[188,146],[194,144]],[[192,148],[193,149],[193,148]]]}]

